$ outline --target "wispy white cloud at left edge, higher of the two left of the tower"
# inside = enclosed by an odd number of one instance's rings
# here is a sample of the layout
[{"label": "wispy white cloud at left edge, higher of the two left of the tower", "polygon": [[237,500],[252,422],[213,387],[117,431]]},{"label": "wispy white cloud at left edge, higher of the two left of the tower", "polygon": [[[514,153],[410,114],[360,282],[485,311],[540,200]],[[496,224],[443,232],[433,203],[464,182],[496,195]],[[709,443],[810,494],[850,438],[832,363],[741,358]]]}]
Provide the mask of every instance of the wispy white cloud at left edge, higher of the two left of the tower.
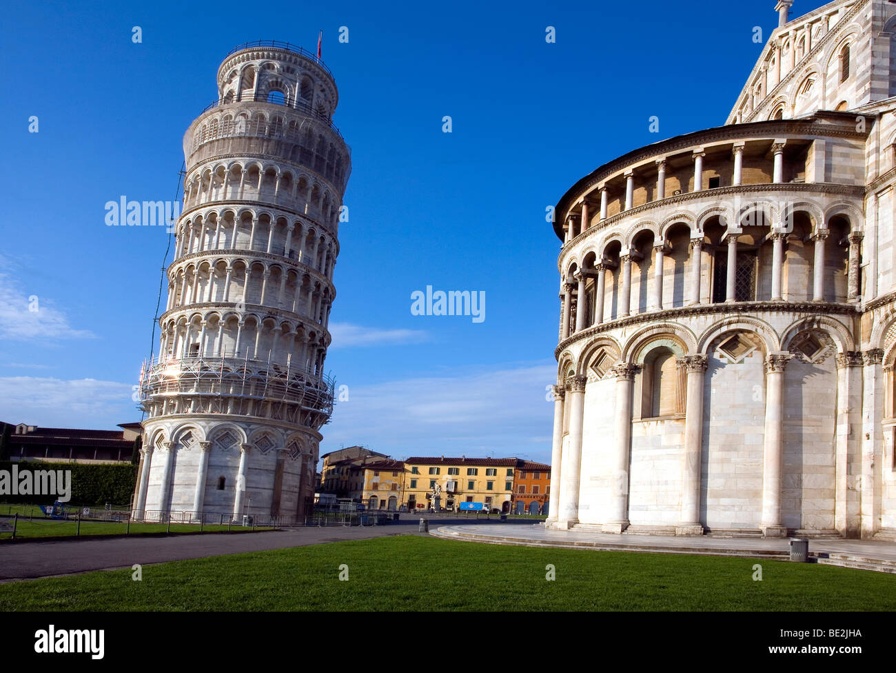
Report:
[{"label": "wispy white cloud at left edge, higher of the two left of the tower", "polygon": [[[3,261],[0,258],[0,262]],[[47,298],[32,297],[9,274],[0,273],[0,339],[58,341],[94,338],[95,335],[89,330],[74,330],[65,314]]]}]

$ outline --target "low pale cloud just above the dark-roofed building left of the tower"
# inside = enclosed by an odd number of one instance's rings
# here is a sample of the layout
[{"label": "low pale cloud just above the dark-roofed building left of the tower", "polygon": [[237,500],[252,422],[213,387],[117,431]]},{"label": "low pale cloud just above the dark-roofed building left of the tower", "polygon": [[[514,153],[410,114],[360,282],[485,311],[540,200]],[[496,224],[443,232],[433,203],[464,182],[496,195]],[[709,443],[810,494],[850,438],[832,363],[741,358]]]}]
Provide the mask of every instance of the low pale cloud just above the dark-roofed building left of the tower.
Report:
[{"label": "low pale cloud just above the dark-roofed building left of the tower", "polygon": [[132,384],[92,378],[0,377],[0,420],[43,427],[114,428],[140,418]]}]

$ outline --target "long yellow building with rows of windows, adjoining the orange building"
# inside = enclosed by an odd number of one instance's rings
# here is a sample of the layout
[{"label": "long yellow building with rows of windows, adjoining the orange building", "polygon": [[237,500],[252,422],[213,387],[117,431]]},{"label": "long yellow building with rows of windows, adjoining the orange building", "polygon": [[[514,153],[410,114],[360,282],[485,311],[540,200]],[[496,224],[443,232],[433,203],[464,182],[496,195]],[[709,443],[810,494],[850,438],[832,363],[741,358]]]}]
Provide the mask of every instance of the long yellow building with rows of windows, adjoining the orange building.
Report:
[{"label": "long yellow building with rows of windows, adjoining the orange building", "polygon": [[[409,458],[404,462],[404,499],[409,511],[458,510],[461,503],[481,503],[489,511],[509,512],[518,458]],[[438,503],[434,487],[441,487]],[[400,487],[401,488],[401,487]]]}]

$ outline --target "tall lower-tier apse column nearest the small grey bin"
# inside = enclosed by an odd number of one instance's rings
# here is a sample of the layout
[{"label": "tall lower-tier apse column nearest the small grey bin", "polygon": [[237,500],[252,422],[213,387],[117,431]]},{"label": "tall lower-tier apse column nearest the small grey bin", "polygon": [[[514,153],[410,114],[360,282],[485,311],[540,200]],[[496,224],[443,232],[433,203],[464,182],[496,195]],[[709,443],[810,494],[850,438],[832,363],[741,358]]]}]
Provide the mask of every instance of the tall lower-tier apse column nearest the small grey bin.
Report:
[{"label": "tall lower-tier apse column nearest the small grey bin", "polygon": [[765,360],[765,430],[762,442],[762,521],[766,538],[783,538],[781,520],[784,467],[784,367],[793,356],[771,353]]}]

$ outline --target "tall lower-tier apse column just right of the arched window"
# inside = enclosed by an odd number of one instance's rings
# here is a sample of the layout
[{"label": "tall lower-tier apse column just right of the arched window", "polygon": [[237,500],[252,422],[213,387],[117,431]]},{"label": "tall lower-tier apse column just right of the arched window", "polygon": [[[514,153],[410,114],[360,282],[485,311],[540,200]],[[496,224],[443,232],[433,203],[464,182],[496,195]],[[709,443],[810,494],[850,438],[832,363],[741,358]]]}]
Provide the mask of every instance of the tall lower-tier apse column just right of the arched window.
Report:
[{"label": "tall lower-tier apse column just right of the arched window", "polygon": [[676,535],[702,535],[700,522],[700,463],[703,447],[703,378],[705,355],[681,358],[687,371],[685,398],[685,460],[682,466],[681,520]]}]

